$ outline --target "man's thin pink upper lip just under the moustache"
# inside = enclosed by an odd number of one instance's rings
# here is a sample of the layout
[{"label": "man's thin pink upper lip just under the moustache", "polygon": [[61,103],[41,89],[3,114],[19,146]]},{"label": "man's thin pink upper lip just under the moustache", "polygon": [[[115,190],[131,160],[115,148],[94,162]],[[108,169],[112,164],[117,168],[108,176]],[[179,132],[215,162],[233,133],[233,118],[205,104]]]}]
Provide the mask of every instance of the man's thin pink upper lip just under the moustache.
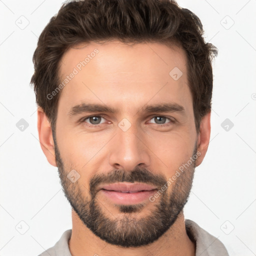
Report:
[{"label": "man's thin pink upper lip just under the moustache", "polygon": [[112,184],[105,184],[99,187],[108,191],[116,191],[121,193],[136,193],[140,191],[150,191],[156,189],[155,186],[144,184],[144,183],[129,183],[129,182],[118,182]]}]

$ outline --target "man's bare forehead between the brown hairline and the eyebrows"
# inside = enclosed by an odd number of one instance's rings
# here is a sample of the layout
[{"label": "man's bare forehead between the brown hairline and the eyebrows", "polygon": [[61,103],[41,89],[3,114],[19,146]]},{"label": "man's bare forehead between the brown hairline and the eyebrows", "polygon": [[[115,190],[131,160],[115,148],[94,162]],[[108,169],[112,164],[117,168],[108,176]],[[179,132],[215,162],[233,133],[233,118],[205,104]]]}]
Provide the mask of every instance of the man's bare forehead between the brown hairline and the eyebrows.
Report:
[{"label": "man's bare forehead between the brown hairline and the eyebrows", "polygon": [[66,108],[84,101],[126,107],[133,102],[139,108],[149,100],[191,99],[185,52],[158,42],[80,43],[62,56],[59,77],[64,84],[59,101]]}]

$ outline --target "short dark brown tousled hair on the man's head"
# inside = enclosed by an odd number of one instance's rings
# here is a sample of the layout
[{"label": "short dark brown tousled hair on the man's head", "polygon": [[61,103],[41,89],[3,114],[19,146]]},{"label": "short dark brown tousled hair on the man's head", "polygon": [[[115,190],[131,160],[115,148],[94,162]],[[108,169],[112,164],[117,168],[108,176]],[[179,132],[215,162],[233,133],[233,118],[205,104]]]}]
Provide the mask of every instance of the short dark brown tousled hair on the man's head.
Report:
[{"label": "short dark brown tousled hair on the man's head", "polygon": [[60,83],[60,59],[81,42],[118,39],[121,42],[176,43],[187,56],[188,86],[193,98],[196,131],[211,109],[211,60],[217,49],[205,43],[199,18],[173,0],[77,0],[65,2],[41,32],[33,54],[36,103],[54,130],[60,93],[48,99]]}]

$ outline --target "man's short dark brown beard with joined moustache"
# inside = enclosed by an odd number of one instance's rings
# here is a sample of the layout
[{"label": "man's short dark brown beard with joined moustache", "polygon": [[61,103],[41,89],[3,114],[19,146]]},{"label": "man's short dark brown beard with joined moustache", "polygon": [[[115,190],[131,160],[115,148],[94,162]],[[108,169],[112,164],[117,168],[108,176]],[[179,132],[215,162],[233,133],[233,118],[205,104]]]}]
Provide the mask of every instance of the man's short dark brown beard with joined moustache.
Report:
[{"label": "man's short dark brown beard with joined moustache", "polygon": [[[161,187],[167,184],[163,175],[153,174],[146,168],[139,167],[132,171],[113,169],[106,174],[95,174],[89,180],[88,190],[79,183],[79,179],[72,183],[67,178],[69,170],[64,167],[54,135],[53,140],[58,174],[65,197],[83,224],[107,243],[121,247],[138,247],[152,243],[172,226],[188,200],[195,161],[170,185],[172,189],[169,195],[169,189],[161,190]],[[194,148],[193,155],[196,150],[197,147]],[[97,187],[100,184],[114,182],[142,182],[154,185],[157,191],[161,191],[161,195],[154,202],[149,202],[152,203],[150,213],[143,217],[137,215],[143,211],[146,203],[114,204],[121,213],[114,216],[97,196]]]}]

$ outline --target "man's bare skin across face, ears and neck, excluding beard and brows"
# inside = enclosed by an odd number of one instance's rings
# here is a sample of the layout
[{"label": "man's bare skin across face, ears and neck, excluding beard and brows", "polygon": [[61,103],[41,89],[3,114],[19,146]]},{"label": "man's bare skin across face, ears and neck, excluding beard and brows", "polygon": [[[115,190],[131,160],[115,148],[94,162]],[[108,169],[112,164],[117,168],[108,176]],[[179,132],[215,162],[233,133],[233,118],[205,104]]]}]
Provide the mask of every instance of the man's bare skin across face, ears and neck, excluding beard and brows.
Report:
[{"label": "man's bare skin across face, ears and neck, excluding beard and brows", "polygon": [[[60,94],[56,119],[56,141],[67,173],[79,172],[82,195],[90,197],[89,180],[95,174],[107,174],[109,170],[126,172],[136,166],[145,167],[167,180],[178,167],[189,160],[195,145],[200,155],[198,166],[207,151],[210,137],[210,112],[200,123],[197,134],[194,123],[192,96],[187,85],[185,52],[177,47],[161,43],[138,43],[128,45],[119,41],[79,44],[68,49],[62,57],[60,75],[68,75],[87,54],[97,48],[98,53],[72,78]],[[170,77],[174,67],[182,71],[178,80]],[[82,102],[105,104],[118,109],[117,113],[80,113],[68,115],[71,107]],[[139,109],[146,104],[175,102],[184,108],[179,112],[145,113]],[[101,124],[93,127],[89,120],[78,122],[86,116],[101,114]],[[38,133],[41,148],[48,162],[57,166],[54,141],[50,123],[43,110],[38,108]],[[165,116],[162,124],[155,116]],[[131,126],[123,131],[118,123],[126,118]],[[88,125],[91,125],[90,127]],[[173,185],[168,186],[170,197]],[[112,218],[123,217],[119,208],[97,196],[101,210]],[[155,202],[149,200],[136,217],[148,216]],[[103,207],[104,206],[104,207]],[[107,209],[107,210],[106,210]],[[110,214],[111,213],[111,214]],[[133,214],[133,213],[131,213]],[[111,217],[112,216],[112,217]],[[176,221],[157,240],[139,247],[124,248],[100,239],[81,221],[72,210],[72,235],[69,240],[72,255],[195,255],[195,245],[189,239],[181,211]]]}]

